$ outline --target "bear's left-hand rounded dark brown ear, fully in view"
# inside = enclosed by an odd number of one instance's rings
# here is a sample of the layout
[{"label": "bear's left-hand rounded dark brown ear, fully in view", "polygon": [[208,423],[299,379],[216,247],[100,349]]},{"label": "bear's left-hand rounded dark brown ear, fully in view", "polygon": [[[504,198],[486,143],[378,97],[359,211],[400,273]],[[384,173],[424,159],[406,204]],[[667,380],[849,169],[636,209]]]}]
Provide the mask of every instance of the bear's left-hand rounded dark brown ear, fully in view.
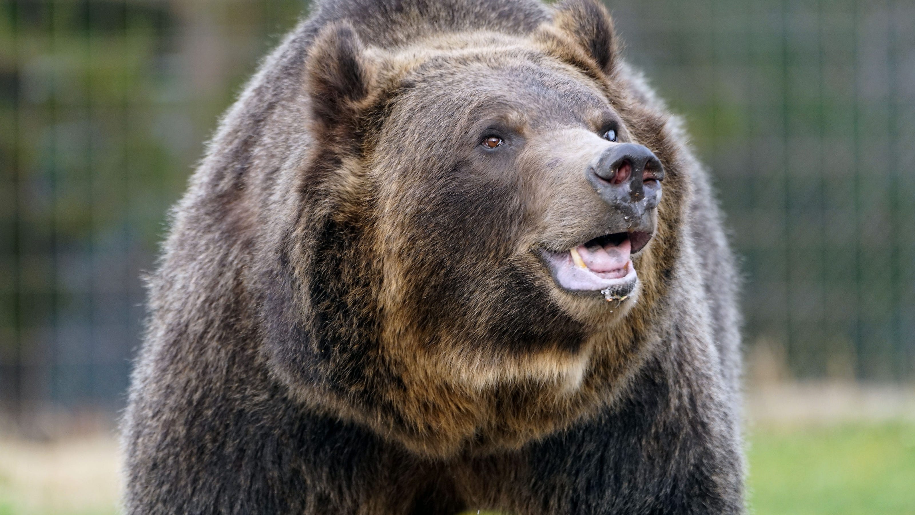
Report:
[{"label": "bear's left-hand rounded dark brown ear, fully in view", "polygon": [[371,65],[359,35],[348,23],[321,30],[306,63],[312,111],[324,128],[352,119],[371,91]]}]

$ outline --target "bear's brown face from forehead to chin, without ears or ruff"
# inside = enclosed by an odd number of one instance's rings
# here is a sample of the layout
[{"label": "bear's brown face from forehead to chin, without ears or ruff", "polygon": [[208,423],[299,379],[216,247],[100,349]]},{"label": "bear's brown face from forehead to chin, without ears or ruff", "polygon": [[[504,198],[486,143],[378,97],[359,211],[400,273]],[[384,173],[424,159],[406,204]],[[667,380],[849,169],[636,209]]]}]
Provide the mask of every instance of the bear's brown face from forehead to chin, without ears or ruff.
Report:
[{"label": "bear's brown face from forehead to chin, without ears or ruff", "polygon": [[556,367],[579,381],[587,336],[638,296],[662,166],[581,70],[511,38],[474,43],[393,58],[420,64],[398,78],[367,172],[383,326],[464,381]]}]

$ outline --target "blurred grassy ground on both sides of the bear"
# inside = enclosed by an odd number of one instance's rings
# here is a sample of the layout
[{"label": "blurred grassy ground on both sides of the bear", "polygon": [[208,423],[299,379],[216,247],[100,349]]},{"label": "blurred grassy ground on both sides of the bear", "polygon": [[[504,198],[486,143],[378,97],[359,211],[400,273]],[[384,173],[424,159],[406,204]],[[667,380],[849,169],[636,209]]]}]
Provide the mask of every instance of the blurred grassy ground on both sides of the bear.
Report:
[{"label": "blurred grassy ground on both sides of the bear", "polygon": [[[0,515],[111,515],[116,445],[0,440]],[[915,424],[753,429],[756,515],[915,515]]]}]

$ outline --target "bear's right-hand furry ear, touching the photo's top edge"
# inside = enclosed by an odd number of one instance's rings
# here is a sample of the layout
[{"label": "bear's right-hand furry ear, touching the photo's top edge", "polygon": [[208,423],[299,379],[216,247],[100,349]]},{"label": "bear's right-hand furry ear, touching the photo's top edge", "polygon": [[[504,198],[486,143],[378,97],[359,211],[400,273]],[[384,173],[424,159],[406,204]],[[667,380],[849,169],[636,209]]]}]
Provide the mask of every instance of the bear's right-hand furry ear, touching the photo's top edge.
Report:
[{"label": "bear's right-hand furry ear, touching the photo's top edge", "polygon": [[584,49],[607,75],[616,66],[617,42],[613,20],[596,0],[565,0],[555,6],[552,26]]}]

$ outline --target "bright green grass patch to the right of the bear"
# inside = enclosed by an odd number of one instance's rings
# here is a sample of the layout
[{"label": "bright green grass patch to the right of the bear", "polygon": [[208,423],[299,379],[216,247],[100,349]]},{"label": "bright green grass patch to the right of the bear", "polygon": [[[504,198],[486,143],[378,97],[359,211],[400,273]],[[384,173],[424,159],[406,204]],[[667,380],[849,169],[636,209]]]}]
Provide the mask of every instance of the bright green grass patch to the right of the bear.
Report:
[{"label": "bright green grass patch to the right of the bear", "polygon": [[756,515],[915,514],[915,425],[760,429],[748,448]]}]

